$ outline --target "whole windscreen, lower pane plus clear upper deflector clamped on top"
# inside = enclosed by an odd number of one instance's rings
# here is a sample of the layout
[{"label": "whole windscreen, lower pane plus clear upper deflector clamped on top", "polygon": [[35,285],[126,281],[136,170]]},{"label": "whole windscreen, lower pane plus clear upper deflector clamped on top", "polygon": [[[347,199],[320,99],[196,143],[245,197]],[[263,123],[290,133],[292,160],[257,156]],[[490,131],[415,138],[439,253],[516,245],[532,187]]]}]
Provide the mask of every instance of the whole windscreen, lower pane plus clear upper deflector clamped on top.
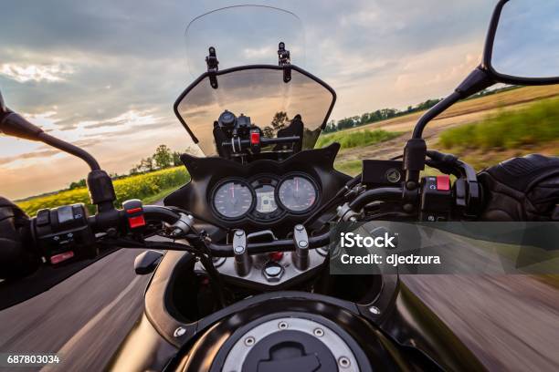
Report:
[{"label": "whole windscreen, lower pane plus clear upper deflector clamped on top", "polygon": [[[187,65],[194,77],[206,73],[209,47],[215,47],[219,61],[218,88],[203,78],[176,106],[207,156],[217,153],[214,122],[226,109],[237,117],[250,117],[268,138],[301,115],[302,148],[314,146],[332,105],[332,92],[295,69],[286,83],[278,67],[280,42],[290,51],[290,63],[304,67],[305,35],[297,15],[265,5],[230,6],[196,17],[186,27],[185,39]],[[237,68],[248,65],[268,67]]]}]

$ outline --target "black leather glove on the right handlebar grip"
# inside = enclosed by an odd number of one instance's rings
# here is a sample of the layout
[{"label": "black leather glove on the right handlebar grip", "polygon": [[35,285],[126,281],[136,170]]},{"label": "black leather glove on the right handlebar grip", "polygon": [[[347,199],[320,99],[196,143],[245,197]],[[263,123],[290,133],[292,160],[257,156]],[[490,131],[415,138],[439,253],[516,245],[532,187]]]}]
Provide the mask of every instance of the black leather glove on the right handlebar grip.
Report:
[{"label": "black leather glove on the right handlebar grip", "polygon": [[527,155],[480,171],[484,221],[559,221],[559,158]]}]

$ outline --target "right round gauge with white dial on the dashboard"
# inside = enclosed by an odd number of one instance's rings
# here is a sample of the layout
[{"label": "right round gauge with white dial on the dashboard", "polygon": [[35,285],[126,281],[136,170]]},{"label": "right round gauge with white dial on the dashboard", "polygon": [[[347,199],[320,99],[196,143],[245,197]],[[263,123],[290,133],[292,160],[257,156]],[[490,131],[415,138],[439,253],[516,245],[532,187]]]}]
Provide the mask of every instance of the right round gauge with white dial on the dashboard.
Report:
[{"label": "right round gauge with white dial on the dashboard", "polygon": [[278,199],[290,212],[310,210],[318,197],[316,186],[302,176],[290,176],[280,183]]}]

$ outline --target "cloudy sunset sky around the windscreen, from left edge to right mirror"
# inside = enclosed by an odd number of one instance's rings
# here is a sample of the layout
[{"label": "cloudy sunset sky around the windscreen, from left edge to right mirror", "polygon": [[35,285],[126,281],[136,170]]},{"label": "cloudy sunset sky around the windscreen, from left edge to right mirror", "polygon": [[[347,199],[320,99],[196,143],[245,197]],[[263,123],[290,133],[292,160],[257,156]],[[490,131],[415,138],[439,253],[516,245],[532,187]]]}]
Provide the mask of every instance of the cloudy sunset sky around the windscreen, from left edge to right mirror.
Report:
[{"label": "cloudy sunset sky around the windscreen, from left edge to right mirror", "polygon": [[[185,28],[197,15],[238,2],[3,3],[0,90],[9,108],[90,151],[112,173],[128,172],[159,144],[173,150],[192,145],[173,104],[205,62],[192,66],[195,51],[187,51]],[[293,25],[304,29],[304,37],[293,42],[293,63],[336,90],[332,119],[343,119],[447,95],[479,64],[495,2],[252,4],[298,16]],[[270,32],[266,17],[211,25],[216,35],[236,35],[243,25],[250,25],[252,34]],[[241,47],[255,60],[267,56],[266,49]],[[220,68],[232,67],[224,48],[218,49]],[[277,63],[274,48],[270,54],[269,63]],[[87,172],[81,160],[39,142],[0,136],[0,195],[16,199],[58,190]]]}]

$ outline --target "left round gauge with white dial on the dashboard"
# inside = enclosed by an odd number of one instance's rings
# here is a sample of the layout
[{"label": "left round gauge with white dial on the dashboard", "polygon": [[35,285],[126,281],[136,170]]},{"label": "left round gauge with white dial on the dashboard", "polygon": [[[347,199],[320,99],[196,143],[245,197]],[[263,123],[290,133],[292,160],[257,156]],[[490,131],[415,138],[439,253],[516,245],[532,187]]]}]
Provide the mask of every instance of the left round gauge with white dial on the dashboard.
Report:
[{"label": "left round gauge with white dial on the dashboard", "polygon": [[252,191],[243,181],[223,183],[214,191],[212,200],[216,212],[228,219],[244,216],[250,211],[253,203]]}]

